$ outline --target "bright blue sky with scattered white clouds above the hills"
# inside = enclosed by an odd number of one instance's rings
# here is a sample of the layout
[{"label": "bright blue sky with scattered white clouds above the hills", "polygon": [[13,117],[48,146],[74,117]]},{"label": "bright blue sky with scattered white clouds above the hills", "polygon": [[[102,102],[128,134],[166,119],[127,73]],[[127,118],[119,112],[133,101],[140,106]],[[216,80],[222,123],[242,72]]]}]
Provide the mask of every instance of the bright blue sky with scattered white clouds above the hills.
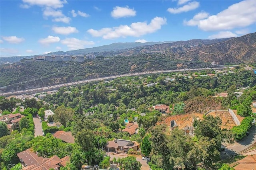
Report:
[{"label": "bright blue sky with scattered white clouds above the hills", "polygon": [[1,0],[0,8],[1,57],[256,31],[256,0]]}]

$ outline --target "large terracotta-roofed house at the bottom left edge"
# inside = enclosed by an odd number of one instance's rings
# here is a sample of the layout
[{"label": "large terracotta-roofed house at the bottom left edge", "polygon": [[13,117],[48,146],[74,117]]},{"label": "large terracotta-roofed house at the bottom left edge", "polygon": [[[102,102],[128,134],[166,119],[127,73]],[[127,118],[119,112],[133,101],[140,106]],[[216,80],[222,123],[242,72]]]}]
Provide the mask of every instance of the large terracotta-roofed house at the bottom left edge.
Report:
[{"label": "large terracotta-roofed house at the bottom left edge", "polygon": [[44,158],[32,152],[32,149],[20,152],[17,156],[22,164],[22,170],[50,170],[51,168],[59,170],[60,166],[66,165],[69,162],[68,156],[62,159],[56,155],[51,158]]}]

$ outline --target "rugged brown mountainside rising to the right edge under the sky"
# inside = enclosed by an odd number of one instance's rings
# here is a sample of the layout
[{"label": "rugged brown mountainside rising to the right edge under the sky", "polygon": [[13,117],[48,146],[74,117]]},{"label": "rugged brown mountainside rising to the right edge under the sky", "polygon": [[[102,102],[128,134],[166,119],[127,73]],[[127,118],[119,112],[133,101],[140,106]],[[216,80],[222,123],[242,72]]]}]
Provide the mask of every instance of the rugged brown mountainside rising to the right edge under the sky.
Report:
[{"label": "rugged brown mountainside rising to the right edge under the sky", "polygon": [[226,39],[192,39],[135,47],[120,52],[121,56],[158,54],[172,60],[217,63],[255,63],[256,33]]}]

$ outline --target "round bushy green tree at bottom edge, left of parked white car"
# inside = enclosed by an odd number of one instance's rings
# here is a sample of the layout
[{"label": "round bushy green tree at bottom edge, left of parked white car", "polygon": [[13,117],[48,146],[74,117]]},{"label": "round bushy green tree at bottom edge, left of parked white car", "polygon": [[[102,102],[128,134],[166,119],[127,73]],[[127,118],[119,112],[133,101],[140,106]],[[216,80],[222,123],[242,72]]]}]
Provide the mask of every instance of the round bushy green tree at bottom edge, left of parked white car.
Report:
[{"label": "round bushy green tree at bottom edge, left of parked white car", "polygon": [[122,159],[124,170],[140,170],[142,164],[134,156],[127,156]]}]

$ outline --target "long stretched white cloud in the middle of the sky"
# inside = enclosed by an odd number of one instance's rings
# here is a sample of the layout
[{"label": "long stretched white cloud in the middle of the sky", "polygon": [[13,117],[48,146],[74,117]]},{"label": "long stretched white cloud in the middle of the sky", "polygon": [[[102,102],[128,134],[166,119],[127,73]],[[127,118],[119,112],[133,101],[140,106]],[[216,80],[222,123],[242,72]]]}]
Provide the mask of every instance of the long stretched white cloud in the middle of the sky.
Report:
[{"label": "long stretched white cloud in the middle of the sky", "polygon": [[113,28],[102,28],[99,30],[87,30],[94,37],[103,37],[104,39],[115,39],[119,37],[139,37],[148,33],[153,33],[161,26],[166,24],[166,18],[155,17],[149,24],[146,22],[134,22],[130,26],[120,25]]}]

